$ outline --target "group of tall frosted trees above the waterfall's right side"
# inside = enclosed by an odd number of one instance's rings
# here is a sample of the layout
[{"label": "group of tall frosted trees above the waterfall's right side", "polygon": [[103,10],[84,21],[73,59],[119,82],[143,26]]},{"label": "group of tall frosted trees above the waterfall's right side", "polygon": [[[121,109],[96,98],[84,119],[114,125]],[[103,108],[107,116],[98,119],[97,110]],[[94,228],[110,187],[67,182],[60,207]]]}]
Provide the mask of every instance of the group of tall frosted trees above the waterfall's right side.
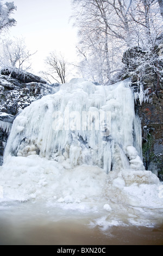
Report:
[{"label": "group of tall frosted trees above the waterfall's right side", "polygon": [[[141,47],[146,52],[146,62],[150,60],[162,32],[158,1],[137,0],[131,4],[127,0],[74,0],[73,7],[82,64],[94,71],[95,62],[98,63],[96,72],[103,77],[101,81],[110,83],[123,69],[120,59],[128,48]],[[156,57],[155,52],[153,56]]]}]

